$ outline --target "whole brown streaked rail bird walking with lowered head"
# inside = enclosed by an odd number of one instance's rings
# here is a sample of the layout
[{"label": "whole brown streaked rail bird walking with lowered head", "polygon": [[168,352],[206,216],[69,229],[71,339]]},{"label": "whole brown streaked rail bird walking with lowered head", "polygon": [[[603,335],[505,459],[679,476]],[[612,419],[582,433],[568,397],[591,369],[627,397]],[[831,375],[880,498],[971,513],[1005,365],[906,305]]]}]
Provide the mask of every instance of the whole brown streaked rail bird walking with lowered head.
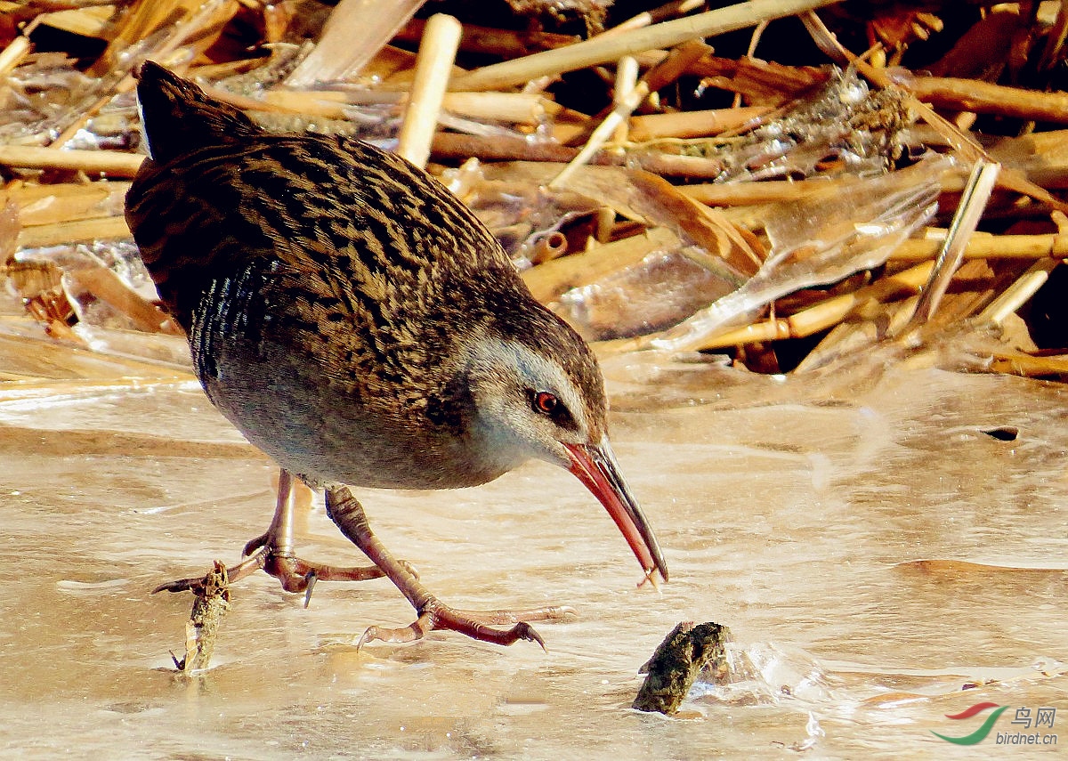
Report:
[{"label": "whole brown streaked rail bird walking with lowered head", "polygon": [[[269,135],[151,62],[138,96],[151,159],[127,219],[209,399],[285,470],[327,488],[331,517],[420,614],[365,639],[537,635],[487,630],[438,603],[343,484],[468,486],[540,457],[575,472],[646,573],[666,578],[608,446],[596,360],[467,207],[395,155]],[[292,555],[284,523],[277,515],[251,544],[268,570],[272,555]],[[290,559],[312,578],[357,576]],[[300,588],[292,570],[279,575]]]}]

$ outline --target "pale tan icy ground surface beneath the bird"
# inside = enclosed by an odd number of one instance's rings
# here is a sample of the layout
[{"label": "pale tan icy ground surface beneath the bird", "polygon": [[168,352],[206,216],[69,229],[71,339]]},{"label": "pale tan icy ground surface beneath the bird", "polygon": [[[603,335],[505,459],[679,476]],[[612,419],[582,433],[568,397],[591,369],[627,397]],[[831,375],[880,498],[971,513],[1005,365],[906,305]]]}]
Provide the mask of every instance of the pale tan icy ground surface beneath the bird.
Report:
[{"label": "pale tan icy ground surface beneath the bird", "polygon": [[[236,560],[267,526],[272,467],[172,366],[25,345],[0,341],[0,364],[54,379],[0,384],[5,757],[972,758],[931,730],[977,723],[945,714],[1066,704],[1063,386],[875,356],[787,378],[613,359],[615,450],[665,550],[661,593],[549,466],[364,492],[444,600],[580,619],[538,626],[548,653],[453,634],[357,653],[367,625],[411,620],[387,581],[320,584],[304,609],[258,574],[189,680],[169,651],[191,600],[148,591]],[[984,433],[999,426],[1016,439]],[[358,562],[321,507],[303,533],[303,557]],[[684,718],[631,711],[637,669],[688,619],[733,630],[737,682],[698,684]]]}]

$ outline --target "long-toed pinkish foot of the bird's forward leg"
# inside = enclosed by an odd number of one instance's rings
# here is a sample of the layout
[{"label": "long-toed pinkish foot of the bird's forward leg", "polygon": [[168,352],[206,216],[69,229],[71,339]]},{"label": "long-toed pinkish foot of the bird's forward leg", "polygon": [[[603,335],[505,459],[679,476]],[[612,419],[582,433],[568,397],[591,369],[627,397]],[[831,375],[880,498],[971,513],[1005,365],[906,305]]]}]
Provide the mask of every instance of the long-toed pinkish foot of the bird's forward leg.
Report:
[{"label": "long-toed pinkish foot of the bird's forward leg", "polygon": [[[400,628],[370,626],[356,649],[367,642],[414,642],[429,632],[450,631],[465,634],[472,639],[491,644],[513,644],[520,639],[537,642],[545,650],[541,639],[530,621],[568,621],[577,617],[575,608],[556,606],[532,608],[530,610],[458,610],[431,597],[420,610],[419,618]],[[503,624],[515,624],[511,628],[494,628]]]}]

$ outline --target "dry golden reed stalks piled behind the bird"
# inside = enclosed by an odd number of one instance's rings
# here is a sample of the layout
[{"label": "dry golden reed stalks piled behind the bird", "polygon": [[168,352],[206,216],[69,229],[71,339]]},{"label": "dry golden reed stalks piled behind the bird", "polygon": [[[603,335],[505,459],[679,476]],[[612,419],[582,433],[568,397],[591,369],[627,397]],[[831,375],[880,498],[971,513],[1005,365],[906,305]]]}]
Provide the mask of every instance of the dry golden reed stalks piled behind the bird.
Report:
[{"label": "dry golden reed stalks piled behind the bird", "polygon": [[151,58],[426,164],[601,351],[803,372],[963,331],[1068,375],[1065,3],[363,5],[0,1],[0,332],[174,332],[122,213]]}]

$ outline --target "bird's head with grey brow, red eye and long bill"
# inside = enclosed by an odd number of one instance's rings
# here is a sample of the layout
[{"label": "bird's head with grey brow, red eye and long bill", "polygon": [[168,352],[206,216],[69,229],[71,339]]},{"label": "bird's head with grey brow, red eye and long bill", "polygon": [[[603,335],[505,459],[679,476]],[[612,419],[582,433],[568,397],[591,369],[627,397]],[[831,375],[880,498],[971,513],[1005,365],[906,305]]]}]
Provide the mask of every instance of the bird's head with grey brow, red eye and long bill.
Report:
[{"label": "bird's head with grey brow, red eye and long bill", "polygon": [[609,444],[597,360],[570,328],[545,317],[518,335],[487,332],[468,343],[464,374],[477,456],[497,472],[531,459],[569,470],[604,506],[646,578],[655,584],[659,573],[668,580],[653,529]]}]

